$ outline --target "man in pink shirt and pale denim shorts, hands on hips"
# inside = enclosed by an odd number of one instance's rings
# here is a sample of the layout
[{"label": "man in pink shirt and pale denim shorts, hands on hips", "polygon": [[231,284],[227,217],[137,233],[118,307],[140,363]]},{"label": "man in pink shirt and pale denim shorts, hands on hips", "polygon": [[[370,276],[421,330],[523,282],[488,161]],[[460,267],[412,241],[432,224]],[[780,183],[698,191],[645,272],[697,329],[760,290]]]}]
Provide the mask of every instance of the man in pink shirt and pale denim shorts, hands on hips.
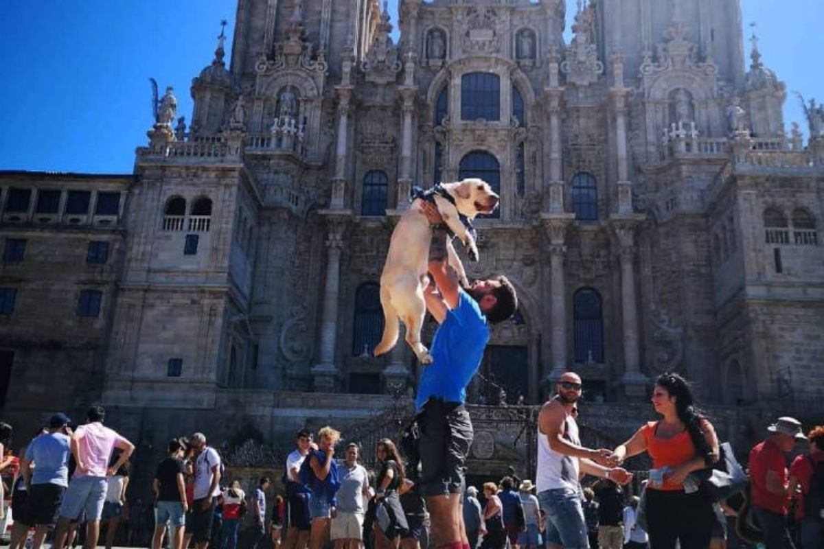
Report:
[{"label": "man in pink shirt and pale denim shorts, hands on hips", "polygon": [[[63,494],[60,520],[54,533],[54,547],[61,549],[66,542],[69,524],[86,512],[86,544],[97,547],[100,521],[108,488],[107,477],[114,475],[129,460],[134,444],[115,430],[103,425],[105,410],[92,406],[86,412],[86,423],[74,431],[71,447],[77,468]],[[109,467],[112,451],[122,450],[116,463]]]}]

